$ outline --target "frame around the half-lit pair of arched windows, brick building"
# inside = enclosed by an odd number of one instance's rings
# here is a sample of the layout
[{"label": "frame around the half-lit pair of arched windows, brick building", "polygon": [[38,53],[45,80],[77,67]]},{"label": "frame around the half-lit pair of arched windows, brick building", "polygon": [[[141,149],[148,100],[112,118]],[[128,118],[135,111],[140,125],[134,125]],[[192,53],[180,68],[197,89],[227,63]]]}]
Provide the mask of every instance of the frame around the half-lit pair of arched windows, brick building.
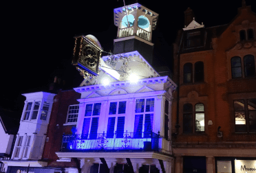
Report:
[{"label": "frame around the half-lit pair of arched windows, brick building", "polygon": [[[192,106],[191,111],[187,111],[187,112],[184,111],[184,106],[186,104],[187,105],[190,104]],[[197,104],[202,104],[204,106],[204,111],[195,111],[195,106]],[[184,135],[197,135],[197,134],[205,134],[206,133],[206,111],[205,111],[206,108],[205,107],[206,107],[205,104],[202,103],[202,102],[196,102],[195,104],[193,104],[191,102],[186,102],[186,103],[183,104],[183,106],[182,106],[182,134],[184,134]],[[204,131],[196,131],[195,130],[195,127],[196,127],[196,125],[195,125],[195,123],[196,123],[195,122],[195,114],[196,113],[204,113]],[[192,119],[191,119],[192,130],[191,130],[191,132],[184,133],[184,115],[192,115]]]}]

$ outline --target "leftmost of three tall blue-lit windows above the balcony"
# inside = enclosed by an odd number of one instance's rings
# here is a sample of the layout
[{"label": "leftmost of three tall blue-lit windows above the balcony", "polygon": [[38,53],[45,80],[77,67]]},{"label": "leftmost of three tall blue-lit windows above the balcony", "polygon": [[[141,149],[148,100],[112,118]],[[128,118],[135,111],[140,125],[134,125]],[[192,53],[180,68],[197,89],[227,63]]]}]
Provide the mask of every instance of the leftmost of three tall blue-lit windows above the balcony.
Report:
[{"label": "leftmost of three tall blue-lit windows above the balcony", "polygon": [[101,103],[87,104],[85,106],[85,118],[83,120],[82,138],[96,139],[98,131],[98,119]]}]

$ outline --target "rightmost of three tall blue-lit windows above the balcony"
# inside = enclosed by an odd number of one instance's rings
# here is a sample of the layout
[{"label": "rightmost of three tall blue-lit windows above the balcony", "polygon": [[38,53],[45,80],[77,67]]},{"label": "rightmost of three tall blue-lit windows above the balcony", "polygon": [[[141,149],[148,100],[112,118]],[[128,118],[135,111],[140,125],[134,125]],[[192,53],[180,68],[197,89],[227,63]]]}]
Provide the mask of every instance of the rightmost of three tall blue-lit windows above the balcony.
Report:
[{"label": "rightmost of three tall blue-lit windows above the balcony", "polygon": [[[149,137],[153,130],[154,98],[137,99],[134,120],[134,136],[136,138]],[[143,126],[144,124],[144,126]]]}]

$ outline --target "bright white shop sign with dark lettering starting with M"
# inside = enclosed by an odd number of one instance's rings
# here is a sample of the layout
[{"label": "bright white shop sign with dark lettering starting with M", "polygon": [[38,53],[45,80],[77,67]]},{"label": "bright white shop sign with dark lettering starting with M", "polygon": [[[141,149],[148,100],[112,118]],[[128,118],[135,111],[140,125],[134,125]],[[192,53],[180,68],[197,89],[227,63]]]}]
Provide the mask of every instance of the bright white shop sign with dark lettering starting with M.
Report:
[{"label": "bright white shop sign with dark lettering starting with M", "polygon": [[256,173],[256,160],[235,160],[235,173]]}]

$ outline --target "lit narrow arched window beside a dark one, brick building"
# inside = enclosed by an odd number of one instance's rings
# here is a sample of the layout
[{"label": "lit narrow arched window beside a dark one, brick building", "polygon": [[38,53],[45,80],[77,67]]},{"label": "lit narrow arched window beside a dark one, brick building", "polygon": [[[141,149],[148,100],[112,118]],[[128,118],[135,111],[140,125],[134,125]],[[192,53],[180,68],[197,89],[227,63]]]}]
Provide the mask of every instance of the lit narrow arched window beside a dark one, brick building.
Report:
[{"label": "lit narrow arched window beside a dark one, brick building", "polygon": [[195,132],[204,132],[204,104],[195,104]]}]

